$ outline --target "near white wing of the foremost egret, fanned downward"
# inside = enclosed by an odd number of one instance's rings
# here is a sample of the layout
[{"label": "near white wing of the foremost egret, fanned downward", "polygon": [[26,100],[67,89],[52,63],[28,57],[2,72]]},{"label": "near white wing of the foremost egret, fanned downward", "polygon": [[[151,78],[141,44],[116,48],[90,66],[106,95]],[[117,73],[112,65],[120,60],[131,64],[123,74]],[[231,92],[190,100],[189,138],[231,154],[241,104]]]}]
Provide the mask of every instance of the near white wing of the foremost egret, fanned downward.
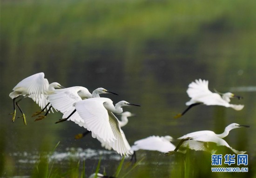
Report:
[{"label": "near white wing of the foremost egret, fanned downward", "polygon": [[91,98],[76,102],[74,106],[88,131],[92,132],[92,136],[110,143],[115,141],[115,136],[109,124],[108,111],[103,103],[103,98]]}]

